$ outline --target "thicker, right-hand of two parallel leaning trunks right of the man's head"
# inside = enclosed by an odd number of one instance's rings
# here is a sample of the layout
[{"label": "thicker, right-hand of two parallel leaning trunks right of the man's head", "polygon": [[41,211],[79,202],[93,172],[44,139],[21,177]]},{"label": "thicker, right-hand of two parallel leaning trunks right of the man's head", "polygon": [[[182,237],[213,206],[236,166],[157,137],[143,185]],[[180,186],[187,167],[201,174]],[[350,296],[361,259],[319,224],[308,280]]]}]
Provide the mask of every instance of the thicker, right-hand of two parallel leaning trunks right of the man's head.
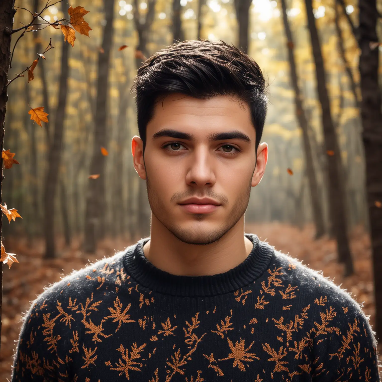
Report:
[{"label": "thicker, right-hand of two parallel leaning trunks right of the man's head", "polygon": [[348,240],[345,190],[343,181],[341,180],[341,153],[330,110],[330,100],[326,88],[324,60],[322,58],[316,21],[313,15],[312,0],[305,0],[305,4],[314,62],[316,64],[317,92],[322,107],[322,127],[324,130],[324,144],[328,163],[330,214],[332,217],[333,231],[337,239],[338,260],[344,263],[345,276],[348,276],[353,273],[353,262]]}]

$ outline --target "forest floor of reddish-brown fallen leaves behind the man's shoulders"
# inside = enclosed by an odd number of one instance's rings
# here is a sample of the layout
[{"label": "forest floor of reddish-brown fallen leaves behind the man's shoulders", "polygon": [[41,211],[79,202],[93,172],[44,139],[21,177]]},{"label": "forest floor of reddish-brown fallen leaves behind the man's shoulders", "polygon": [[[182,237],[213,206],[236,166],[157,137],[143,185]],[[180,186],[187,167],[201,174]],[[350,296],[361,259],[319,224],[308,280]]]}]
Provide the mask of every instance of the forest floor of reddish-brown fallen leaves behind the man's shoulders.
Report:
[{"label": "forest floor of reddish-brown fallen leaves behind the man's shoulders", "polygon": [[[369,236],[362,228],[355,228],[351,235],[354,274],[343,278],[343,265],[336,262],[336,243],[327,237],[314,240],[314,227],[303,230],[290,225],[274,222],[266,224],[246,224],[246,232],[256,233],[260,240],[267,241],[278,251],[289,253],[308,267],[322,271],[337,285],[341,285],[351,296],[363,303],[363,311],[370,316],[374,327],[373,275]],[[8,253],[16,253],[19,264],[11,269],[3,266],[3,307],[0,350],[0,381],[10,379],[12,356],[18,340],[22,314],[28,311],[30,302],[43,290],[44,286],[59,281],[73,269],[78,270],[103,257],[112,256],[131,243],[121,238],[108,238],[99,243],[97,253],[89,255],[81,251],[79,240],[73,240],[71,248],[58,243],[58,258],[43,258],[42,240],[7,238]],[[382,362],[382,341],[378,346]]]}]

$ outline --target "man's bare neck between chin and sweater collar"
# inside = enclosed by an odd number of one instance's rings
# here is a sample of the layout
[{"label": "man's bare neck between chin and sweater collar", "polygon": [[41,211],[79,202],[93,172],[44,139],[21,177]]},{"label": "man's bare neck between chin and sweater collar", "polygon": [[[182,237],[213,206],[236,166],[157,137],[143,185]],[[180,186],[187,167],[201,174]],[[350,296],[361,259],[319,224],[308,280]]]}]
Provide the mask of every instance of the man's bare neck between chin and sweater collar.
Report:
[{"label": "man's bare neck between chin and sweater collar", "polygon": [[206,245],[187,244],[151,217],[150,240],[144,245],[146,259],[173,275],[205,276],[227,272],[243,262],[253,244],[244,236],[244,216],[218,241]]}]

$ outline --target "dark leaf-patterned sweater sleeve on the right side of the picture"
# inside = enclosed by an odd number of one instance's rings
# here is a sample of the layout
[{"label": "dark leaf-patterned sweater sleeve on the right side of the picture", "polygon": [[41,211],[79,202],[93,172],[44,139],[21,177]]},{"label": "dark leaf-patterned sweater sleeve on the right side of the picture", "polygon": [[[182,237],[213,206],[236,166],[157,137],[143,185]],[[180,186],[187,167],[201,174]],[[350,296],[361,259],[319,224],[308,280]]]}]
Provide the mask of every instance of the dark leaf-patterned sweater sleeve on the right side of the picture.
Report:
[{"label": "dark leaf-patterned sweater sleeve on the right side of the picture", "polygon": [[[321,315],[314,382],[380,382],[375,333],[361,307],[350,296]],[[321,331],[321,333],[320,333]],[[317,334],[316,332],[316,334]],[[322,340],[322,332],[326,338]]]}]

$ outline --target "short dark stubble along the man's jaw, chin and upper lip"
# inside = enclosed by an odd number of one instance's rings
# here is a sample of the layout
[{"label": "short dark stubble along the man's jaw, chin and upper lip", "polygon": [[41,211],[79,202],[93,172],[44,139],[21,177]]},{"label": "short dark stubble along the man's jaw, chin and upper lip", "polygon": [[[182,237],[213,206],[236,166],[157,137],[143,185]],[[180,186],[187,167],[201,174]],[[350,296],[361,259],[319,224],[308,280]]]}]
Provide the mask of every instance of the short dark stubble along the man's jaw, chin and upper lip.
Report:
[{"label": "short dark stubble along the man's jaw, chin and upper lip", "polygon": [[[191,229],[181,228],[180,226],[176,225],[176,223],[168,219],[168,214],[166,213],[165,205],[163,204],[160,197],[152,189],[151,183],[146,174],[147,197],[149,199],[152,214],[168,229],[168,231],[172,233],[173,236],[175,236],[176,239],[186,244],[207,245],[220,240],[228,231],[231,230],[232,227],[236,225],[236,223],[244,215],[248,207],[249,197],[251,195],[251,180],[252,176],[250,178],[248,187],[244,189],[243,193],[236,198],[235,203],[233,204],[232,209],[230,210],[230,213],[228,214],[225,222],[223,222],[221,225],[214,228],[213,230],[210,230],[209,232],[204,231],[202,234],[200,233],[200,231],[192,232]],[[171,201],[183,199],[181,197],[182,195],[184,195],[185,197],[189,197],[194,196],[195,193],[191,195],[189,195],[189,193],[187,193],[187,195],[185,195],[185,193],[176,193],[172,196]],[[204,194],[204,196],[213,197],[212,195],[208,194]],[[219,200],[223,201],[222,199],[224,199],[225,204],[227,205],[227,197],[223,196]],[[208,216],[206,214],[193,215],[193,219],[197,222],[202,222],[207,218]]]}]

